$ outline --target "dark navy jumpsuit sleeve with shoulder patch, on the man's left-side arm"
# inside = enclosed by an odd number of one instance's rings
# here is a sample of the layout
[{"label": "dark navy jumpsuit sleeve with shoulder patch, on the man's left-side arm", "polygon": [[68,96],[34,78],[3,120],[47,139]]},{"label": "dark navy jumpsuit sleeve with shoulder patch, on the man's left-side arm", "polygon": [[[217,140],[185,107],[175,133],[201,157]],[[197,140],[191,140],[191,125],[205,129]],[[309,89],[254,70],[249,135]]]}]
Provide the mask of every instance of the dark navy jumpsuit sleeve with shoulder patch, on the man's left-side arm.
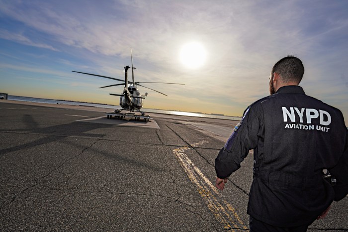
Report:
[{"label": "dark navy jumpsuit sleeve with shoulder patch, on the man's left-side arm", "polygon": [[260,128],[260,106],[247,108],[240,123],[234,128],[225,146],[215,159],[216,176],[224,179],[241,167],[241,162],[247,157],[249,150],[255,148],[258,142]]}]

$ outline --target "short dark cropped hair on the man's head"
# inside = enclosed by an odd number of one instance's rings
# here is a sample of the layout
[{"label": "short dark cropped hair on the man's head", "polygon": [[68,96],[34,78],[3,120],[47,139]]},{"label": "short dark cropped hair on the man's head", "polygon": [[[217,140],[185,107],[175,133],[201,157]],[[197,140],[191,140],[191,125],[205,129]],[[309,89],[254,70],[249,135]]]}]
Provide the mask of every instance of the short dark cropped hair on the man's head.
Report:
[{"label": "short dark cropped hair on the man's head", "polygon": [[299,84],[303,77],[304,67],[299,58],[286,56],[275,63],[272,73],[280,74],[284,83],[295,82]]}]

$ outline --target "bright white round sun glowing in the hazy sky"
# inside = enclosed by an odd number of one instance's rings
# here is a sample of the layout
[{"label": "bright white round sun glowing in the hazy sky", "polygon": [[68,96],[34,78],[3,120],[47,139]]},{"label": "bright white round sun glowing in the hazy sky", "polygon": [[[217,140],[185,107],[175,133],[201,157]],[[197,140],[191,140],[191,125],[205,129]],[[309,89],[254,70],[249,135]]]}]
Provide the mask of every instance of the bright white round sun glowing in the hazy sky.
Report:
[{"label": "bright white round sun glowing in the hazy sky", "polygon": [[206,51],[201,43],[190,42],[182,46],[180,50],[180,61],[188,68],[199,68],[206,60]]}]

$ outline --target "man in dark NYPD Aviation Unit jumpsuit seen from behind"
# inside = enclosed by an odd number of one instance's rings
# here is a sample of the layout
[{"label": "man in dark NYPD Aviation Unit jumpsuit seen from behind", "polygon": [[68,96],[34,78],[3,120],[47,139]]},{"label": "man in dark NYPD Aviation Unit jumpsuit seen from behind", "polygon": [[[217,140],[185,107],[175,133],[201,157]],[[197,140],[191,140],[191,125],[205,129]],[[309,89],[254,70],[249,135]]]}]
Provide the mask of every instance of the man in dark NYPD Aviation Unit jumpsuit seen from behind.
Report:
[{"label": "man in dark NYPD Aviation Unit jumpsuit seen from behind", "polygon": [[[270,96],[249,106],[215,159],[216,187],[254,149],[250,231],[305,232],[348,194],[348,130],[343,115],[298,86],[300,59],[272,68]],[[323,170],[330,172],[329,181]],[[336,185],[335,185],[336,184]]]}]

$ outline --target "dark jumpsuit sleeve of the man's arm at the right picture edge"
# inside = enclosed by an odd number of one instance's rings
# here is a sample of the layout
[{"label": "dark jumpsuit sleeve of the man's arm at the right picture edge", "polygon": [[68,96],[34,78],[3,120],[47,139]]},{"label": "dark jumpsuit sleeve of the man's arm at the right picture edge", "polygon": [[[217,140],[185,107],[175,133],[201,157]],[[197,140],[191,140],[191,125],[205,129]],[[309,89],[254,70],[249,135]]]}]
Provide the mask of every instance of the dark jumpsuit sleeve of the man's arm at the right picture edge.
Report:
[{"label": "dark jumpsuit sleeve of the man's arm at the right picture edge", "polygon": [[337,183],[333,186],[335,190],[335,201],[344,199],[348,194],[348,130],[346,128],[346,145],[343,155],[338,164],[329,170],[336,177]]}]

